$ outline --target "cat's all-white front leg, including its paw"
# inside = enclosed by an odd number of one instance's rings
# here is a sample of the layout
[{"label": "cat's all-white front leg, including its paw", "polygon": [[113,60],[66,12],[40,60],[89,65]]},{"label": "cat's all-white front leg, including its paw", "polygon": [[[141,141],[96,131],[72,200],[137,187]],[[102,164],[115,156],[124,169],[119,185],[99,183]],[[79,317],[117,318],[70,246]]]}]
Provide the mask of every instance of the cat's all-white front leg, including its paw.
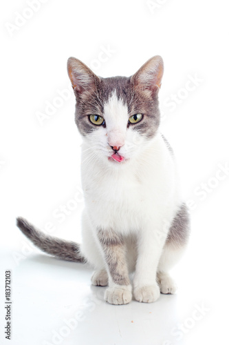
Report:
[{"label": "cat's all-white front leg, including its paw", "polygon": [[151,303],[160,297],[157,265],[166,240],[167,229],[147,226],[138,234],[138,259],[133,279],[133,294],[138,302]]}]

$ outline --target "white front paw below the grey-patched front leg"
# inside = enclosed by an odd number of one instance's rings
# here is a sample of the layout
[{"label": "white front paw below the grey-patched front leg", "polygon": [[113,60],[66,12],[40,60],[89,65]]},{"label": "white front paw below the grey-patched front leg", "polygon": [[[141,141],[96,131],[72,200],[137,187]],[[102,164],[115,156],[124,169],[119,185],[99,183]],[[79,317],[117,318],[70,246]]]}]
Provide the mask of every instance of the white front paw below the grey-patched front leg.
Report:
[{"label": "white front paw below the grey-patched front leg", "polygon": [[115,286],[105,291],[105,301],[110,304],[127,304],[131,302],[132,293],[129,286]]}]

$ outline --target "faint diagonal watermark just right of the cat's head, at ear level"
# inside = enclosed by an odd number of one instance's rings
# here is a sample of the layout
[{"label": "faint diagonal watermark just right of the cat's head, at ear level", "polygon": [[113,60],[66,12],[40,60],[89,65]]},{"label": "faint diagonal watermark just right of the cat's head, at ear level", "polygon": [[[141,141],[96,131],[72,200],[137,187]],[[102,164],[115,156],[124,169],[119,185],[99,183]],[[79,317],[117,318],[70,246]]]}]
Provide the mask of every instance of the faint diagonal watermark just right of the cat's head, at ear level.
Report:
[{"label": "faint diagonal watermark just right of the cat's head, at ear level", "polygon": [[166,112],[173,112],[177,106],[182,104],[192,92],[195,92],[197,88],[203,83],[204,79],[199,77],[197,73],[194,75],[188,75],[187,81],[182,88],[179,88],[176,93],[173,93],[166,97],[162,102],[161,118],[162,121],[166,119]]}]

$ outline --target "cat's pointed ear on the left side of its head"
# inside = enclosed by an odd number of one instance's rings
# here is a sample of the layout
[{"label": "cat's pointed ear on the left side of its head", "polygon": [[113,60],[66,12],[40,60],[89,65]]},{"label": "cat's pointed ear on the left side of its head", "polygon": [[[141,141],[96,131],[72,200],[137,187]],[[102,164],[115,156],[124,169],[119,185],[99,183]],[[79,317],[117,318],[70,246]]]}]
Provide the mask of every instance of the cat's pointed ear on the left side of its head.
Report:
[{"label": "cat's pointed ear on the left side of its head", "polygon": [[72,88],[79,93],[84,90],[95,90],[96,81],[100,81],[99,77],[85,63],[75,57],[69,57],[67,60],[67,72],[72,82]]}]

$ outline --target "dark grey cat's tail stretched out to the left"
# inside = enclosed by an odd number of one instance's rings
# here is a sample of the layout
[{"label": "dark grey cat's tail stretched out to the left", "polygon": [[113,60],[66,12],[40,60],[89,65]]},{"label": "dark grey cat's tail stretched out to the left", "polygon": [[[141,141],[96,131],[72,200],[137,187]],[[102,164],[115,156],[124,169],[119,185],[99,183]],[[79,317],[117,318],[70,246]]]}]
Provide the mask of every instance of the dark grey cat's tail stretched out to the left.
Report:
[{"label": "dark grey cat's tail stretched out to the left", "polygon": [[67,261],[86,262],[86,259],[80,253],[80,244],[45,235],[22,217],[17,218],[17,226],[43,252]]}]

